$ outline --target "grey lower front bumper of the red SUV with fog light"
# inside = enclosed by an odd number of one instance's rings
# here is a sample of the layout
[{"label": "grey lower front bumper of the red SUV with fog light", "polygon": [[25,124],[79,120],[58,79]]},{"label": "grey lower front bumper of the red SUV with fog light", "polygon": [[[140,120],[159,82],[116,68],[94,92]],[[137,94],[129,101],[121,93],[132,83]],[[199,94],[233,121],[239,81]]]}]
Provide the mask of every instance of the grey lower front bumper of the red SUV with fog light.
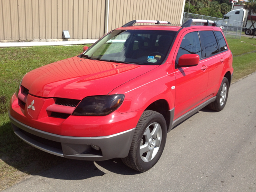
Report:
[{"label": "grey lower front bumper of the red SUV with fog light", "polygon": [[[57,156],[78,160],[108,160],[128,156],[135,128],[109,136],[61,136],[38,130],[10,115],[14,133],[28,144]],[[91,145],[97,145],[95,150]]]}]

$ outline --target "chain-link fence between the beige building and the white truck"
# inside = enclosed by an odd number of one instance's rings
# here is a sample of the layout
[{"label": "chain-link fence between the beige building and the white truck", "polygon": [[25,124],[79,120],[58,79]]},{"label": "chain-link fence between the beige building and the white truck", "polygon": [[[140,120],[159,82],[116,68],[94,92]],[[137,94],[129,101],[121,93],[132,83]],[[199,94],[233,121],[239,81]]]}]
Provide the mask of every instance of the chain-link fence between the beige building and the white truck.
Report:
[{"label": "chain-link fence between the beige building and the white truck", "polygon": [[[216,22],[217,26],[220,27],[226,38],[230,39],[240,39],[242,34],[243,22],[192,14],[192,13],[184,13],[182,24],[189,19],[206,19],[212,20]],[[197,23],[202,24],[202,23]],[[202,24],[203,25],[203,24]]]}]

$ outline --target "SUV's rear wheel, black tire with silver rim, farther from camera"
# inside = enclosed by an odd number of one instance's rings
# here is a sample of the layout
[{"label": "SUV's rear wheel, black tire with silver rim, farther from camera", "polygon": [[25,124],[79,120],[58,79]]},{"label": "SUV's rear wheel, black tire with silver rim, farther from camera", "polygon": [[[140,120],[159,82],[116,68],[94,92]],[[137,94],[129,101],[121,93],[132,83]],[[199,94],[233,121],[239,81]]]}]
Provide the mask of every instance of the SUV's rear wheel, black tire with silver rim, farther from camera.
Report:
[{"label": "SUV's rear wheel, black tire with silver rim, farther from camera", "polygon": [[224,109],[228,99],[228,89],[229,89],[228,79],[224,77],[220,85],[220,89],[216,95],[216,100],[214,102],[211,102],[208,105],[208,107],[215,111],[221,111],[222,109]]}]

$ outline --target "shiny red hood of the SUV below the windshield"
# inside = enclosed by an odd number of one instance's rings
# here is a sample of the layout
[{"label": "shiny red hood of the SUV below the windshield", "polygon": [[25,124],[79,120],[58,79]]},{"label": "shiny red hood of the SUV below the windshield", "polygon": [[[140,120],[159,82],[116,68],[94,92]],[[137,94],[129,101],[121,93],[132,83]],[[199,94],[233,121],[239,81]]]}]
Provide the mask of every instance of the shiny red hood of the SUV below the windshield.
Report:
[{"label": "shiny red hood of the SUV below the windshield", "polygon": [[158,66],[142,66],[72,57],[27,73],[22,86],[39,97],[83,99],[114,88]]}]

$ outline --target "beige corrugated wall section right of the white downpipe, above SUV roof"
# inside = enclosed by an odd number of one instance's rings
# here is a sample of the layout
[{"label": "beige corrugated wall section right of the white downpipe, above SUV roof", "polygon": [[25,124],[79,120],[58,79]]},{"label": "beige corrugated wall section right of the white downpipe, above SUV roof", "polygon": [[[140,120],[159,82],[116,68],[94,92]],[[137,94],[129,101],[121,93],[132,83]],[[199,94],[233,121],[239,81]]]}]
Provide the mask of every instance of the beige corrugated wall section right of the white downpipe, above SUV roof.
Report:
[{"label": "beige corrugated wall section right of the white downpipe, above SUV roof", "polygon": [[108,31],[132,20],[181,24],[184,0],[110,0]]}]

